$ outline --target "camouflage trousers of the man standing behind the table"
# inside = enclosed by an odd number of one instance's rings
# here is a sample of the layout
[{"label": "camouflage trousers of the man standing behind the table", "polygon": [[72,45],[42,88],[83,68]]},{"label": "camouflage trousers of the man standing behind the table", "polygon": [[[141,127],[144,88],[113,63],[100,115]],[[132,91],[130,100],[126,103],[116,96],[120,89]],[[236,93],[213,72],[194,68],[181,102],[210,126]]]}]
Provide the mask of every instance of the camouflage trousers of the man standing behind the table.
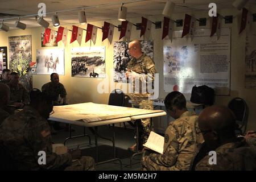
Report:
[{"label": "camouflage trousers of the man standing behind the table", "polygon": [[[134,108],[154,110],[153,100],[148,100],[147,97],[131,97],[131,104]],[[142,144],[147,142],[150,131],[153,130],[153,125],[150,122],[150,118],[141,119],[141,122],[137,124],[139,136],[136,135],[135,130],[135,138],[139,137],[139,146],[142,146]]]}]

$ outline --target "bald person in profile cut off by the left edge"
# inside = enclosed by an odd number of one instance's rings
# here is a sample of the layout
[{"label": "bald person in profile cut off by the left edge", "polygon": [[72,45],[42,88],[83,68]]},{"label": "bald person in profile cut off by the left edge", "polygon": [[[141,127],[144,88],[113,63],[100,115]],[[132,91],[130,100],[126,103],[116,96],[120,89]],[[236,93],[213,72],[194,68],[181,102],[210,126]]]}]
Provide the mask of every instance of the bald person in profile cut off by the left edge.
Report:
[{"label": "bald person in profile cut off by the left edge", "polygon": [[5,120],[5,118],[9,117],[9,113],[4,110],[6,105],[10,100],[10,89],[6,84],[0,83],[0,125]]}]

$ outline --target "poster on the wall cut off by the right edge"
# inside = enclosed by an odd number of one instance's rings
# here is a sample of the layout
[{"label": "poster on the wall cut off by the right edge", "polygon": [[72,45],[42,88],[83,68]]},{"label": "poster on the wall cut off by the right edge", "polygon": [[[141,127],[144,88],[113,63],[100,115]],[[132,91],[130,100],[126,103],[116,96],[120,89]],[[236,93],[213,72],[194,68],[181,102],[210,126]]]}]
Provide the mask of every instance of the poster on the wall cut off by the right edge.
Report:
[{"label": "poster on the wall cut off by the right edge", "polygon": [[256,31],[246,32],[245,88],[256,89]]}]

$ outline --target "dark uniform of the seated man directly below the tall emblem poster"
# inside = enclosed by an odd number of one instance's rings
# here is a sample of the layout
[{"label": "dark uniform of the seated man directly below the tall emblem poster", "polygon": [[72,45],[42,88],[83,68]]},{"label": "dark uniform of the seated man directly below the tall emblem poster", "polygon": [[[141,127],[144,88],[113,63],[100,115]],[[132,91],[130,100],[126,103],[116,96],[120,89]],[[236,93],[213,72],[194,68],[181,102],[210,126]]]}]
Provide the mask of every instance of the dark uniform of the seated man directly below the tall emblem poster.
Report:
[{"label": "dark uniform of the seated man directly below the tall emblem poster", "polygon": [[10,104],[14,104],[14,102],[22,102],[24,105],[30,104],[28,92],[22,84],[18,84],[16,87],[11,86],[11,84],[8,86],[10,87]]}]

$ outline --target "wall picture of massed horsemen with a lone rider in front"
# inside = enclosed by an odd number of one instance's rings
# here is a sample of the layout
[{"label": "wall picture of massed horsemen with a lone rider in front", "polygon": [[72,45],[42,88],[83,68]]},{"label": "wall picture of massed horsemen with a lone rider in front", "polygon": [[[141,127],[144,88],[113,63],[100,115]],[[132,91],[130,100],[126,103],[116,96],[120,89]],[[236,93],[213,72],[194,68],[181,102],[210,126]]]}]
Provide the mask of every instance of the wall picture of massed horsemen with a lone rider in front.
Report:
[{"label": "wall picture of massed horsemen with a lone rider in front", "polygon": [[105,47],[76,47],[71,50],[72,77],[105,78]]}]

